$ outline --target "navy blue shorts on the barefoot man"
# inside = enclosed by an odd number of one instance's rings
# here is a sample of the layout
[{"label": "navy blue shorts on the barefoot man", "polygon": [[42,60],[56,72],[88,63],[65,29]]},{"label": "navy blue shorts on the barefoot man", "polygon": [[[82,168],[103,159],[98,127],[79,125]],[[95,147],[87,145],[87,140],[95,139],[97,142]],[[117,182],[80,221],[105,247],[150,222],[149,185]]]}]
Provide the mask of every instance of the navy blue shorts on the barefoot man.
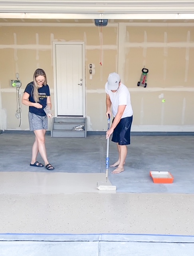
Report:
[{"label": "navy blue shorts on the barefoot man", "polygon": [[[113,119],[114,120],[114,119]],[[119,124],[114,129],[112,141],[119,143],[119,145],[130,144],[131,124],[133,116],[121,118]]]}]

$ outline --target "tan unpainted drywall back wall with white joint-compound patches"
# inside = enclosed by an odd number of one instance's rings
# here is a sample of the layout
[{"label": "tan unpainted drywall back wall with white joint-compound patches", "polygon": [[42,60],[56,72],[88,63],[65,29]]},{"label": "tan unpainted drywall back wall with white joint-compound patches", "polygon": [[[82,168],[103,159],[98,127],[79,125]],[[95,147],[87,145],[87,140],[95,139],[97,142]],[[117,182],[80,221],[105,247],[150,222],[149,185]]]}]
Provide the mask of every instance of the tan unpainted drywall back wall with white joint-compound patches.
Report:
[{"label": "tan unpainted drywall back wall with white joint-compound patches", "polygon": [[[16,73],[22,82],[21,99],[36,68],[43,68],[55,112],[52,43],[81,41],[85,42],[87,130],[106,130],[104,85],[110,72],[118,72],[131,93],[132,131],[193,131],[194,24],[109,23],[102,29],[102,46],[100,36],[101,29],[94,24],[1,23],[0,130],[29,129],[28,107],[21,106],[20,127],[15,115],[18,92],[10,80],[16,79]],[[137,86],[144,66],[149,70],[146,88]]]}]

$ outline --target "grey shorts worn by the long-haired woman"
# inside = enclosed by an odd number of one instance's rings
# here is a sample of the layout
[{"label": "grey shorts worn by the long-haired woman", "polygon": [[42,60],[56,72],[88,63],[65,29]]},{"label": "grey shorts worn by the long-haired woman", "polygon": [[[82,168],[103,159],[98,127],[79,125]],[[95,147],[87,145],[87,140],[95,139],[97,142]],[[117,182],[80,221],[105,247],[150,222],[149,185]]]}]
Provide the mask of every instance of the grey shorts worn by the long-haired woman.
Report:
[{"label": "grey shorts worn by the long-haired woman", "polygon": [[30,131],[34,130],[47,130],[48,118],[47,116],[38,116],[36,114],[28,112],[28,120],[30,124]]}]

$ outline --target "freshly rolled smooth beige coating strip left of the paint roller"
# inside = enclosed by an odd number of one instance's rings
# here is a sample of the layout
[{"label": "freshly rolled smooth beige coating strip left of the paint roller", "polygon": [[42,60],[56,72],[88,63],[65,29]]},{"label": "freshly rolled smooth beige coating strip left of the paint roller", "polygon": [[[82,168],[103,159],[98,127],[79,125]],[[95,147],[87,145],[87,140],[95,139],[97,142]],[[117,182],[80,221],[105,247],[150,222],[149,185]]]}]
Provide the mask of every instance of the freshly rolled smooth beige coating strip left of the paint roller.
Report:
[{"label": "freshly rolled smooth beige coating strip left of the paint roller", "polygon": [[0,194],[100,193],[97,182],[111,186],[104,173],[0,172]]}]

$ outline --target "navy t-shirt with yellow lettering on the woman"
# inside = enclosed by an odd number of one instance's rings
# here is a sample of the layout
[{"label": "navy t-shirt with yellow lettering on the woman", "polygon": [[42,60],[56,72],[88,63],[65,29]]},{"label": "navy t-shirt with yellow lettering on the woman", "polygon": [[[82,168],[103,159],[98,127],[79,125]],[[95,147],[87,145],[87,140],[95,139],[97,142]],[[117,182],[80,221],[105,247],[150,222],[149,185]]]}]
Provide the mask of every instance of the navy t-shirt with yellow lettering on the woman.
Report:
[{"label": "navy t-shirt with yellow lettering on the woman", "polygon": [[[30,102],[34,102],[34,98],[33,98],[33,86],[34,82],[30,82],[29,84],[27,84],[26,89],[24,90],[24,92],[27,92],[28,94],[30,94],[29,97],[29,101]],[[46,116],[46,113],[44,112],[44,108],[46,107],[46,101],[47,101],[47,97],[50,96],[50,90],[49,90],[49,86],[47,85],[43,85],[42,87],[40,87],[38,89],[38,96],[39,96],[39,102],[42,105],[42,108],[35,108],[32,106],[29,106],[29,112],[36,114],[38,116]]]}]

